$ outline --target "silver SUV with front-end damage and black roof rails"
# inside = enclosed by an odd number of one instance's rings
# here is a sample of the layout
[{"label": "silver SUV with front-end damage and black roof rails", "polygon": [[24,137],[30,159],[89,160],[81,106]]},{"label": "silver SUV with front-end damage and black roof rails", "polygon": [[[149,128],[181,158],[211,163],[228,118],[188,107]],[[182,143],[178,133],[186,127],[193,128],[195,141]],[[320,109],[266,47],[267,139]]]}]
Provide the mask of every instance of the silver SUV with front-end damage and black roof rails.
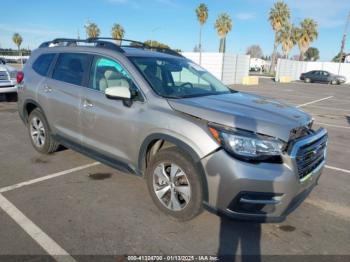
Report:
[{"label": "silver SUV with front-end damage and black roof rails", "polygon": [[61,144],[142,176],[154,203],[180,220],[206,207],[281,221],[325,165],[327,132],[308,114],[234,91],[169,49],[56,39],[23,73],[19,113],[37,151]]}]

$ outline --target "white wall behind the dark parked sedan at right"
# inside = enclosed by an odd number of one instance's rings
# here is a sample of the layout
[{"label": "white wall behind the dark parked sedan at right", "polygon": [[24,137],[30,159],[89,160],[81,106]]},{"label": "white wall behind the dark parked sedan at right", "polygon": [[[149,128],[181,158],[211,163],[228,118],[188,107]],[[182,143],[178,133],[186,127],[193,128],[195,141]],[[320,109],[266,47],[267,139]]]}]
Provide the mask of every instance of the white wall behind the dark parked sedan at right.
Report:
[{"label": "white wall behind the dark parked sedan at right", "polygon": [[[339,63],[334,62],[308,62],[294,61],[287,59],[278,59],[276,70],[276,81],[281,76],[289,76],[292,80],[299,80],[302,73],[311,70],[325,70],[338,75]],[[340,66],[340,75],[346,77],[346,82],[350,83],[350,63],[342,63]]]}]

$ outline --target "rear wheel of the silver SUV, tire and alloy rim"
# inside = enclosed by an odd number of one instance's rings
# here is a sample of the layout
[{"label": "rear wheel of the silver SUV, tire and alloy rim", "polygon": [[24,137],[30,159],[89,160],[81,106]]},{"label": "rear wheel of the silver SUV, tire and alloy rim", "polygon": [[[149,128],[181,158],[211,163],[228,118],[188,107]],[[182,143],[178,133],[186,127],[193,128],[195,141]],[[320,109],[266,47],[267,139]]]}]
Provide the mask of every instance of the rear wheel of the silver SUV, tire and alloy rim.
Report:
[{"label": "rear wheel of the silver SUV, tire and alloy rim", "polygon": [[28,133],[33,147],[41,154],[54,153],[59,147],[59,144],[52,139],[49,126],[39,108],[34,109],[29,115]]}]

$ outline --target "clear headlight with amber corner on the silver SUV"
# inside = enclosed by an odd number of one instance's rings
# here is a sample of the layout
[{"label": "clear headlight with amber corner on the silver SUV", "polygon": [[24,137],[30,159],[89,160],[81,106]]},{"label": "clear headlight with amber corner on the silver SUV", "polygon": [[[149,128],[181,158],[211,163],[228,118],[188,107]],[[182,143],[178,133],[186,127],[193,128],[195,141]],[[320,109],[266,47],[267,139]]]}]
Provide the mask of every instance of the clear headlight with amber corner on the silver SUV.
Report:
[{"label": "clear headlight with amber corner on the silver SUV", "polygon": [[209,130],[229,154],[240,160],[278,163],[282,161],[284,143],[278,139],[217,126],[210,126]]}]

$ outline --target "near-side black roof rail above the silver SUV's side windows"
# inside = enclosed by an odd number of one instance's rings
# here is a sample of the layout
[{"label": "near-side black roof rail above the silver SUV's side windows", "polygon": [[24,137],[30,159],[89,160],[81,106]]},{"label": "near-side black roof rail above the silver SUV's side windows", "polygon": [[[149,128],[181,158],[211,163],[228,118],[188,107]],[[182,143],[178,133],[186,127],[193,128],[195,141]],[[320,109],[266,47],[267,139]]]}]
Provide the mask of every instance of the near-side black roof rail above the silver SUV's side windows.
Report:
[{"label": "near-side black roof rail above the silver SUV's side windows", "polygon": [[108,49],[112,49],[112,50],[120,52],[120,53],[125,52],[120,46],[118,46],[110,41],[101,41],[101,40],[94,39],[94,38],[89,38],[89,39],[85,39],[85,40],[84,39],[72,39],[72,38],[56,38],[52,41],[42,43],[39,46],[39,48],[50,47],[51,44],[62,45],[62,46],[77,46],[78,43],[86,43],[86,44],[93,43],[93,44],[95,44],[95,47],[108,48]]}]

